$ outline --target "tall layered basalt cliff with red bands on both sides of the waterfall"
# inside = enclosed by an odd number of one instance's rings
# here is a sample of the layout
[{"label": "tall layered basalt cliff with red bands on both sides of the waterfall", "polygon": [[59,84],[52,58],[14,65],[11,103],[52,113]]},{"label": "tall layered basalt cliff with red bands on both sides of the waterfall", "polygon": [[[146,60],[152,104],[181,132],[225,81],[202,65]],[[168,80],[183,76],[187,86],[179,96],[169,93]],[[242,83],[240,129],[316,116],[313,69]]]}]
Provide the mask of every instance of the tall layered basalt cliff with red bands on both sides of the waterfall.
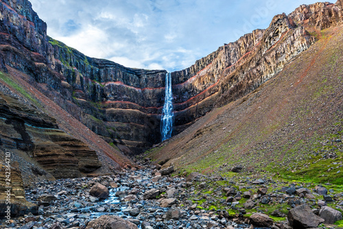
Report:
[{"label": "tall layered basalt cliff with red bands on both sides of the waterfall", "polygon": [[[122,152],[141,152],[161,141],[165,71],[130,69],[84,56],[49,38],[26,0],[0,2],[0,66],[30,75],[73,117]],[[275,16],[182,71],[171,73],[174,134],[216,106],[228,104],[281,71],[316,42],[316,29],[342,22],[342,1],[301,5]]]}]

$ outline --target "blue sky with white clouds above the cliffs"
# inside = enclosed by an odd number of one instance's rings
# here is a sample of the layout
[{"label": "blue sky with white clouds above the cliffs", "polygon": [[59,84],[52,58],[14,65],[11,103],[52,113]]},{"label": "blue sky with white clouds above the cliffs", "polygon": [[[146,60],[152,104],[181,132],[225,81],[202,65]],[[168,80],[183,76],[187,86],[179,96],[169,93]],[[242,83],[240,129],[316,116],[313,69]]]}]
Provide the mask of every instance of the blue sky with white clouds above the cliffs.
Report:
[{"label": "blue sky with white clouds above the cliffs", "polygon": [[126,67],[185,69],[311,0],[30,0],[48,35]]}]

